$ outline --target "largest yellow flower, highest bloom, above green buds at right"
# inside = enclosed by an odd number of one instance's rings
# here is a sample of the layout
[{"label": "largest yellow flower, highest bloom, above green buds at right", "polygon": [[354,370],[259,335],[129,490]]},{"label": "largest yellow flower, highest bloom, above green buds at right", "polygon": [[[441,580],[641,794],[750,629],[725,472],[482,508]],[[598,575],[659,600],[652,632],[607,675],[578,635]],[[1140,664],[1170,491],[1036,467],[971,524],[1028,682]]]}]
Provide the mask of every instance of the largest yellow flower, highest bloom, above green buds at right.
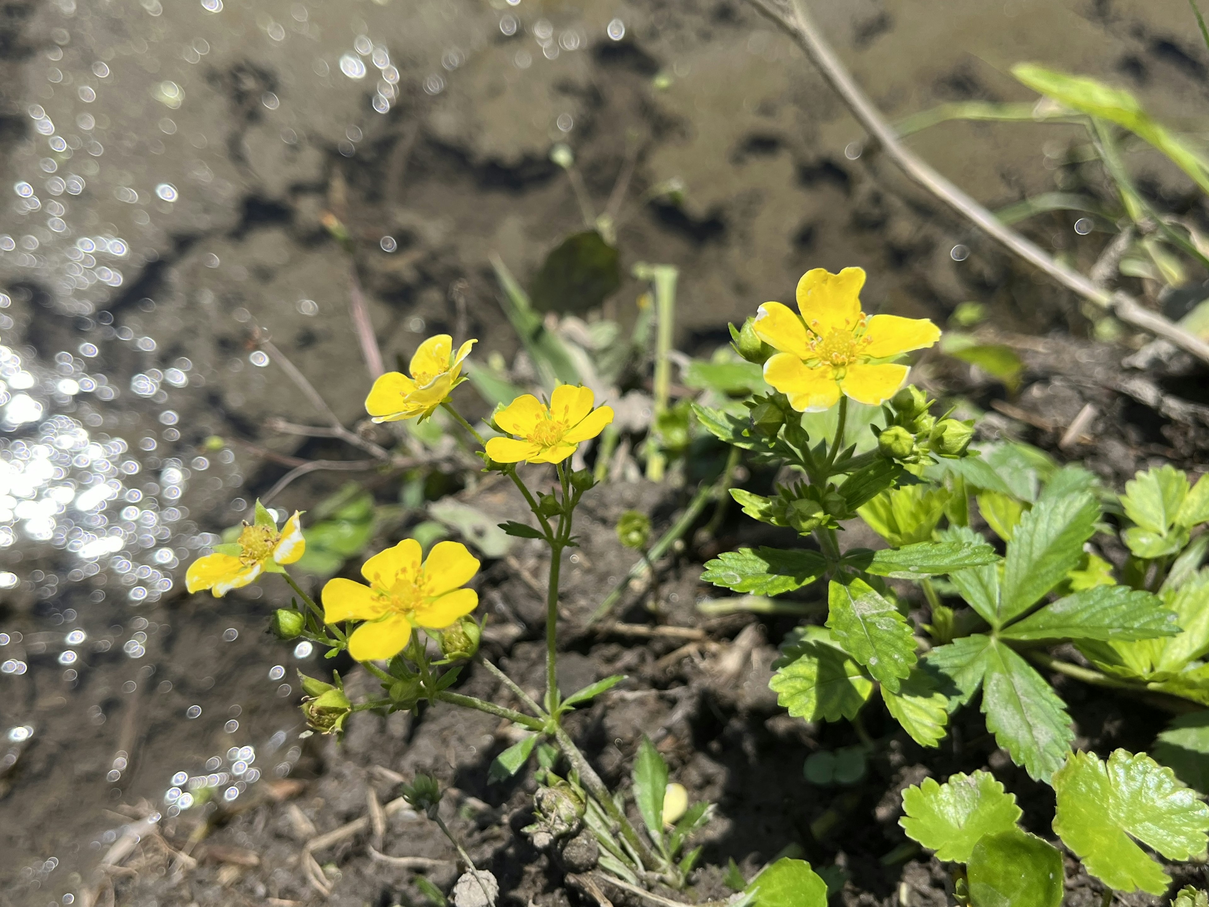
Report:
[{"label": "largest yellow flower, highest bloom, above green buds at right", "polygon": [[863,285],[860,267],[838,275],[816,267],[798,282],[800,317],[780,302],[759,307],[756,335],[780,351],[764,363],[764,380],[799,412],[831,409],[840,393],[873,405],[889,400],[909,369],[875,360],[939,339],[941,329],[926,318],[867,316],[861,311]]}]

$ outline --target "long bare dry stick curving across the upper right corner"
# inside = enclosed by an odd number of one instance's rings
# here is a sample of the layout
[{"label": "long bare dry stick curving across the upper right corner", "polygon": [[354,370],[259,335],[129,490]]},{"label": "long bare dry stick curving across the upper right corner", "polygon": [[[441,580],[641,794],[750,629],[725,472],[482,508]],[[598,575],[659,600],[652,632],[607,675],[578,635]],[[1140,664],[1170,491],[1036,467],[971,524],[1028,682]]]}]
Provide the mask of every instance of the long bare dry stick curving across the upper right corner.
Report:
[{"label": "long bare dry stick curving across the upper right corner", "polygon": [[852,79],[831,45],[823,39],[806,11],[805,0],[789,0],[789,8],[783,8],[775,0],[748,0],[748,2],[773,19],[805,51],[806,57],[818,69],[823,79],[835,89],[851,110],[857,122],[873,135],[887,155],[915,183],[930,191],[962,216],[980,226],[991,238],[1008,250],[1016,253],[1035,267],[1045,271],[1058,283],[1074,290],[1083,299],[1107,308],[1126,324],[1163,337],[1175,346],[1209,363],[1209,343],[1188,334],[1186,330],[1157,312],[1140,305],[1133,296],[1122,293],[1110,293],[1098,287],[1086,275],[1066,267],[1047,255],[1041,247],[1024,238],[1011,227],[1005,226],[994,214],[953,183],[937,173],[899,140],[898,134],[878,112],[873,103]]}]

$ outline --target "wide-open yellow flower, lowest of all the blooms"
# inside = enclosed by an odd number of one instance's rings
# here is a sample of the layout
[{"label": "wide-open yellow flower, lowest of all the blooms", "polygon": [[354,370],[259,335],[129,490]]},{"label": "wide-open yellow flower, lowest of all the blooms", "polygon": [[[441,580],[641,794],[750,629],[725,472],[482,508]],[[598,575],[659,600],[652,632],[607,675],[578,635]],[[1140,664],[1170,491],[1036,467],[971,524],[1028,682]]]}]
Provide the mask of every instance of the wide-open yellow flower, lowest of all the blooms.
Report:
[{"label": "wide-open yellow flower, lowest of all the blooms", "polygon": [[420,562],[420,542],[405,538],[361,566],[369,585],[332,579],[323,587],[323,619],[364,620],[348,637],[348,654],[377,662],[403,652],[411,630],[441,630],[479,606],[479,594],[461,587],[479,561],[461,542],[438,542]]}]

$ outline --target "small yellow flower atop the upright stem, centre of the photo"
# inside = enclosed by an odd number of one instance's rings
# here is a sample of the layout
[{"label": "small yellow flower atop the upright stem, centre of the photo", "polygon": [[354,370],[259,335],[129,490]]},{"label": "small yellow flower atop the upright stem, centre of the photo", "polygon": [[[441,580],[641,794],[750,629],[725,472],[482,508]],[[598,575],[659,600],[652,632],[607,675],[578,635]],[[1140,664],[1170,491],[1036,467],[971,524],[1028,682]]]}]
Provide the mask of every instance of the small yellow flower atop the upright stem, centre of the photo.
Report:
[{"label": "small yellow flower atop the upright stem, centre of the photo", "polygon": [[561,463],[580,441],[595,438],[613,421],[613,408],[592,409],[590,387],[559,385],[550,405],[533,394],[517,397],[496,414],[496,424],[516,438],[492,438],[487,456],[497,463]]}]

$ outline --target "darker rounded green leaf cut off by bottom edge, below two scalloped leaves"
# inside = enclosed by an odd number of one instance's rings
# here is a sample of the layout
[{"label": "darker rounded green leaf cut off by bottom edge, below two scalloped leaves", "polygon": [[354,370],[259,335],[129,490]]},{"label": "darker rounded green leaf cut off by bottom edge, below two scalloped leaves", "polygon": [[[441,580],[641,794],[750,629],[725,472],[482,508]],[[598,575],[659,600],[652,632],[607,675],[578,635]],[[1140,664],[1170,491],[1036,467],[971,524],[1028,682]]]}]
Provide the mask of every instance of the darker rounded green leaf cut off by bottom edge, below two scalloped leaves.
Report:
[{"label": "darker rounded green leaf cut off by bottom edge, below two scalloped leaves", "polygon": [[970,907],[1060,907],[1063,882],[1058,848],[1019,828],[988,834],[966,866]]}]

